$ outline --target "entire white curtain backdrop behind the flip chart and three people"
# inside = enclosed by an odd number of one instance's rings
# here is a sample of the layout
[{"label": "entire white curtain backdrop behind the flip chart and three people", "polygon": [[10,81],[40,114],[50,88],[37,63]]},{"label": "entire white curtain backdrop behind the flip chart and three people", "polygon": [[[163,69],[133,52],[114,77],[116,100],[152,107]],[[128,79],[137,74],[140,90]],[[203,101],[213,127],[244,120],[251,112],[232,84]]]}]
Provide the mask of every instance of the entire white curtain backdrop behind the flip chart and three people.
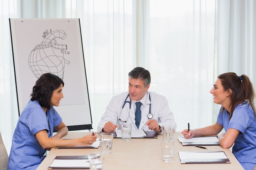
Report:
[{"label": "entire white curtain backdrop behind the flip chart and three people", "polygon": [[151,73],[149,90],[166,96],[181,131],[188,122],[198,128],[216,121],[220,106],[209,91],[218,74],[256,81],[255,9],[253,0],[0,0],[7,151],[18,120],[9,18],[80,18],[94,130],[111,97],[128,90],[128,72],[142,66]]}]

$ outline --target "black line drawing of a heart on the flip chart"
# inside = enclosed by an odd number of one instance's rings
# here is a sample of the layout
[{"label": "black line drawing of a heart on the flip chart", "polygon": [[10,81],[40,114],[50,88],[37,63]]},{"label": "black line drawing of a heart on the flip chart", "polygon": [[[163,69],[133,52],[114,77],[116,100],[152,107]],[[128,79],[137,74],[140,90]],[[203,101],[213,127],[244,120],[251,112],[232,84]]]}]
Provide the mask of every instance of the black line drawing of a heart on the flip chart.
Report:
[{"label": "black line drawing of a heart on the flip chart", "polygon": [[42,43],[36,45],[29,54],[29,68],[37,78],[43,73],[52,73],[63,79],[65,63],[70,64],[65,60],[64,54],[70,52],[65,51],[66,44],[57,44],[56,38],[63,40],[66,38],[66,33],[63,30],[50,29],[50,32],[46,30],[42,37],[44,38]]}]

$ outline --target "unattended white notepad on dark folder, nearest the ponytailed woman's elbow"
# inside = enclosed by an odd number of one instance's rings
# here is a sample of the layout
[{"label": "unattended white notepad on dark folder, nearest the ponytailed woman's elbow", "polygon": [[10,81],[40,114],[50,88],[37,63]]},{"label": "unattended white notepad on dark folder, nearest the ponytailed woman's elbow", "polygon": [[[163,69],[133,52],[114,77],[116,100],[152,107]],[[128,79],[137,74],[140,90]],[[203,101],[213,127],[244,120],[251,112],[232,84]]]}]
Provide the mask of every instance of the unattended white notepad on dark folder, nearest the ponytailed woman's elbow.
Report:
[{"label": "unattended white notepad on dark folder, nearest the ponytailed woman's elbow", "polygon": [[223,151],[179,151],[180,163],[230,163]]}]

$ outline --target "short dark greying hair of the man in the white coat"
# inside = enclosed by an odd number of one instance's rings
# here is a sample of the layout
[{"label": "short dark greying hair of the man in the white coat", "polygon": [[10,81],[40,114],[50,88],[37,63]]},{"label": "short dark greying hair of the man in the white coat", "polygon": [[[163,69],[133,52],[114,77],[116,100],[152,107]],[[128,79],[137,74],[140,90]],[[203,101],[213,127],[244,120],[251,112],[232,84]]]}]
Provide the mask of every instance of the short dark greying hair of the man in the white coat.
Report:
[{"label": "short dark greying hair of the man in the white coat", "polygon": [[128,74],[128,77],[132,77],[134,79],[141,79],[144,81],[144,86],[146,87],[150,84],[151,78],[148,70],[142,67],[133,68],[132,71]]}]

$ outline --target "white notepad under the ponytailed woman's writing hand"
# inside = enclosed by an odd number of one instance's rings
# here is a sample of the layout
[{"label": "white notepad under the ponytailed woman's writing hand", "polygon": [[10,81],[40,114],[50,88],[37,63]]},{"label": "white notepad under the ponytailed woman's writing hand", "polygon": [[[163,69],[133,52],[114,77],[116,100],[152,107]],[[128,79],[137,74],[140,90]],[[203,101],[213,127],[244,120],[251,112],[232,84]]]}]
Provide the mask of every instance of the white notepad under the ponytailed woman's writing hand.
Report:
[{"label": "white notepad under the ponytailed woman's writing hand", "polygon": [[178,140],[183,146],[194,146],[194,145],[219,145],[219,139],[216,136],[209,137],[192,137],[186,139],[184,137],[178,137]]}]

